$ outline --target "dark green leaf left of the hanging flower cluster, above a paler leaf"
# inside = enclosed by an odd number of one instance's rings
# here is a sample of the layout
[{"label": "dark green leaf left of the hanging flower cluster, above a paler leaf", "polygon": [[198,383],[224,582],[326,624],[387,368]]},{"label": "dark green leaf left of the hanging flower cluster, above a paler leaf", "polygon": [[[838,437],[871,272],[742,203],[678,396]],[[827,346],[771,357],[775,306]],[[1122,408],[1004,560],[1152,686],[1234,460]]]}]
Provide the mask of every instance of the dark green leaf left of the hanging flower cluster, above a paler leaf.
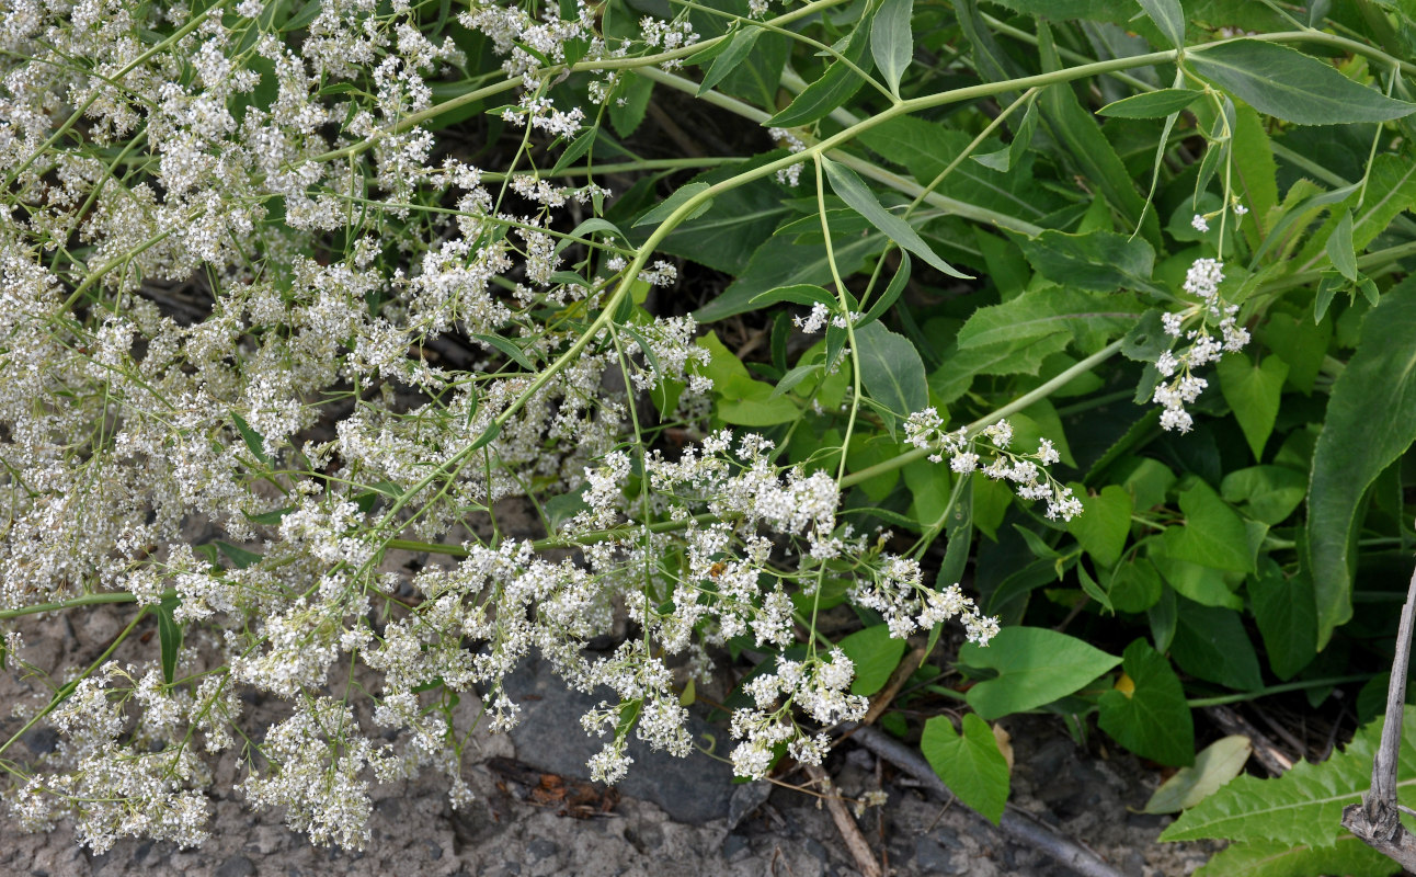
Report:
[{"label": "dark green leaf left of the hanging flower cluster, above a paler leaf", "polygon": [[1093,292],[1158,290],[1150,279],[1155,251],[1140,238],[1112,231],[1066,234],[1049,228],[1021,245],[1028,262],[1054,283]]}]

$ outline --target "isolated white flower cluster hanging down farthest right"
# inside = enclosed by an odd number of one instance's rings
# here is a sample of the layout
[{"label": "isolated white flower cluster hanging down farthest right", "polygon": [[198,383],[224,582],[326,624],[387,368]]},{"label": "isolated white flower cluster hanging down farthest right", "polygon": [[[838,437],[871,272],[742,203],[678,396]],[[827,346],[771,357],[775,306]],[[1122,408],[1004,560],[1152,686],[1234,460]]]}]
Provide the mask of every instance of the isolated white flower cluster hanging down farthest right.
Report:
[{"label": "isolated white flower cluster hanging down farthest right", "polygon": [[[1223,268],[1223,262],[1216,259],[1195,259],[1185,272],[1184,290],[1199,303],[1161,317],[1165,334],[1189,343],[1180,353],[1165,350],[1155,360],[1155,371],[1164,380],[1151,400],[1161,405],[1160,425],[1167,431],[1189,432],[1195,424],[1185,405],[1195,402],[1209,383],[1195,377],[1194,370],[1218,361],[1225,353],[1238,353],[1249,343],[1249,330],[1238,323],[1239,306],[1219,295]],[[1195,315],[1201,317],[1199,326],[1185,330],[1185,320]],[[1211,334],[1211,327],[1218,330],[1218,337]]]}]

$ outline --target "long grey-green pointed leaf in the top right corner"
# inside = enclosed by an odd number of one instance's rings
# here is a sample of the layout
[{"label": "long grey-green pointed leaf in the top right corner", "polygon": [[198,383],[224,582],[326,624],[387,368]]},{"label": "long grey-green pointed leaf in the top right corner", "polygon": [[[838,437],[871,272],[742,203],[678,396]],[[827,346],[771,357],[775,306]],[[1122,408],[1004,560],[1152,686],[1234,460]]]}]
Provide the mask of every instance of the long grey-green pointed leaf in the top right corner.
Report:
[{"label": "long grey-green pointed leaf in the top right corner", "polygon": [[1274,43],[1212,43],[1189,50],[1185,61],[1256,111],[1297,125],[1386,122],[1416,112],[1413,103],[1393,101],[1317,58]]}]

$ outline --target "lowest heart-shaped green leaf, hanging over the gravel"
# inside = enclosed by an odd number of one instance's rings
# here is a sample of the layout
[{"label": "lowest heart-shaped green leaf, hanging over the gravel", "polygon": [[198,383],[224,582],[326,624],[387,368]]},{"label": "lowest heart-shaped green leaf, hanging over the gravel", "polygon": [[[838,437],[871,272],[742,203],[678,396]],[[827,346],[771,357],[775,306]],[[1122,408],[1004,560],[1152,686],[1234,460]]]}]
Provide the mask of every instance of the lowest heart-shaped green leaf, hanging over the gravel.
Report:
[{"label": "lowest heart-shaped green leaf, hanging over the gravel", "polygon": [[963,727],[960,735],[947,715],[935,715],[925,723],[919,751],[959,800],[998,825],[1008,803],[1008,759],[988,723],[966,713]]}]

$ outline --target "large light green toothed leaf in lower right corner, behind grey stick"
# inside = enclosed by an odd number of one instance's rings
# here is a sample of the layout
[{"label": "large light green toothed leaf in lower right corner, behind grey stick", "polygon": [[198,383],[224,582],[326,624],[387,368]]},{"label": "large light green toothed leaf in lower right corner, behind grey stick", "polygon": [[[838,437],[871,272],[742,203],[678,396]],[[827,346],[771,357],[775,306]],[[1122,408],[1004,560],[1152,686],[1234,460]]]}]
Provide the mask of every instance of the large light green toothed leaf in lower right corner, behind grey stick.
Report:
[{"label": "large light green toothed leaf in lower right corner, behind grey stick", "polygon": [[[1236,776],[1199,806],[1181,813],[1161,840],[1221,837],[1331,847],[1348,836],[1342,808],[1361,800],[1372,785],[1372,758],[1382,720],[1357,731],[1347,748],[1321,764],[1300,761],[1277,779]],[[1406,707],[1398,759],[1398,792],[1412,803],[1416,785],[1416,708]]]}]

